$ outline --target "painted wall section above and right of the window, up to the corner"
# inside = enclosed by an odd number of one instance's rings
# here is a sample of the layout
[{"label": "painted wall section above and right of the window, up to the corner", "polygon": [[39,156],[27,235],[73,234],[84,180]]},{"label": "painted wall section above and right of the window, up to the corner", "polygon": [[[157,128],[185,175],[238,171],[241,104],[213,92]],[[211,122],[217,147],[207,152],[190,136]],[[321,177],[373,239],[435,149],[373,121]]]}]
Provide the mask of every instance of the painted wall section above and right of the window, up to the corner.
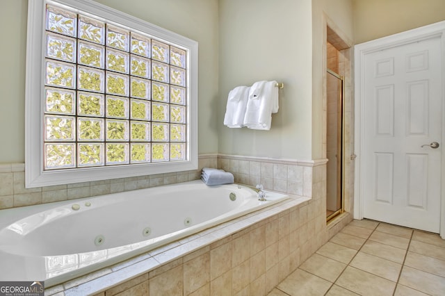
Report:
[{"label": "painted wall section above and right of the window, up to the corner", "polygon": [[218,0],[95,1],[198,42],[198,153],[217,153]]}]

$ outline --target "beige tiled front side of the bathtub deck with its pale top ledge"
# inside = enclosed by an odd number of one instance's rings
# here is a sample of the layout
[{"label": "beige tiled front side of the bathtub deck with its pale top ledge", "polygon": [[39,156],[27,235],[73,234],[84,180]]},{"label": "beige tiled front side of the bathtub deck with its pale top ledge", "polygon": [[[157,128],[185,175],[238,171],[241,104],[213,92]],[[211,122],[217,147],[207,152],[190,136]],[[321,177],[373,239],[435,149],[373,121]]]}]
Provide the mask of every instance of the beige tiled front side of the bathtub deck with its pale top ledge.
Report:
[{"label": "beige tiled front side of the bathtub deck with its pale top ledge", "polygon": [[323,212],[308,215],[313,203],[293,196],[45,295],[266,295],[352,219],[327,228]]}]

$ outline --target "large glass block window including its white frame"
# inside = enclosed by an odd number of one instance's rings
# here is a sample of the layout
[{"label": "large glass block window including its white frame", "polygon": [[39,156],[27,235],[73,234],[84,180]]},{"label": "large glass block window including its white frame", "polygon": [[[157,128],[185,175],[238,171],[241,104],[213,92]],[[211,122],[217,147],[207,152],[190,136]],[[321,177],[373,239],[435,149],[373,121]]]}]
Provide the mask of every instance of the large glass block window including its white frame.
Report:
[{"label": "large glass block window including its white frame", "polygon": [[28,12],[26,188],[197,169],[196,41],[92,0]]}]

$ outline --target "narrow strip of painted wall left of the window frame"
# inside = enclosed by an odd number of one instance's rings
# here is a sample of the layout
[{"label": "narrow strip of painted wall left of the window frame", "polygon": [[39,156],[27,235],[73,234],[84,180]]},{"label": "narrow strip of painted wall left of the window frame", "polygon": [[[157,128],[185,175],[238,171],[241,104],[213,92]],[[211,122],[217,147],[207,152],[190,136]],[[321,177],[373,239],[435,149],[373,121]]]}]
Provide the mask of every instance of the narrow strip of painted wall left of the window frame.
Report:
[{"label": "narrow strip of painted wall left of the window frame", "polygon": [[24,162],[26,15],[28,1],[3,0],[0,47],[0,163]]}]

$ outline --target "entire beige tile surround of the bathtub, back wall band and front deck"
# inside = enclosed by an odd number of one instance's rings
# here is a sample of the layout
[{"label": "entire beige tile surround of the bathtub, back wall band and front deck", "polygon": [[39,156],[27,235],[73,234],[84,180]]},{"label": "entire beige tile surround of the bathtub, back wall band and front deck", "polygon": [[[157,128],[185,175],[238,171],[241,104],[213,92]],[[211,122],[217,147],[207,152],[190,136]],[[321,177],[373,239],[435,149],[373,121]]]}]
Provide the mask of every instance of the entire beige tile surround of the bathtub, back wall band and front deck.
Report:
[{"label": "entire beige tile surround of the bathtub, back wall band and front deck", "polygon": [[[325,160],[298,162],[205,154],[200,155],[197,171],[30,190],[24,189],[23,164],[0,165],[0,177],[4,177],[0,179],[3,182],[0,183],[0,208],[56,201],[49,196],[59,193],[65,200],[70,199],[73,192],[81,196],[72,198],[89,197],[191,181],[200,178],[202,167],[218,167],[232,172],[237,183],[251,186],[263,183],[266,190],[307,198],[307,201],[298,205],[288,201],[284,202],[286,206],[280,204],[240,217],[148,254],[50,287],[45,294],[159,295],[162,292],[157,289],[165,287],[173,289],[165,290],[168,295],[223,295],[229,287],[232,291],[227,290],[228,295],[266,295],[352,220],[352,215],[344,213],[326,225],[325,163]],[[257,239],[258,244],[254,243]],[[238,251],[239,245],[243,246],[242,251]],[[221,253],[224,260],[220,258]],[[231,258],[232,266],[226,262],[227,258]],[[220,264],[227,265],[221,267]],[[225,272],[212,273],[212,268]]]}]

